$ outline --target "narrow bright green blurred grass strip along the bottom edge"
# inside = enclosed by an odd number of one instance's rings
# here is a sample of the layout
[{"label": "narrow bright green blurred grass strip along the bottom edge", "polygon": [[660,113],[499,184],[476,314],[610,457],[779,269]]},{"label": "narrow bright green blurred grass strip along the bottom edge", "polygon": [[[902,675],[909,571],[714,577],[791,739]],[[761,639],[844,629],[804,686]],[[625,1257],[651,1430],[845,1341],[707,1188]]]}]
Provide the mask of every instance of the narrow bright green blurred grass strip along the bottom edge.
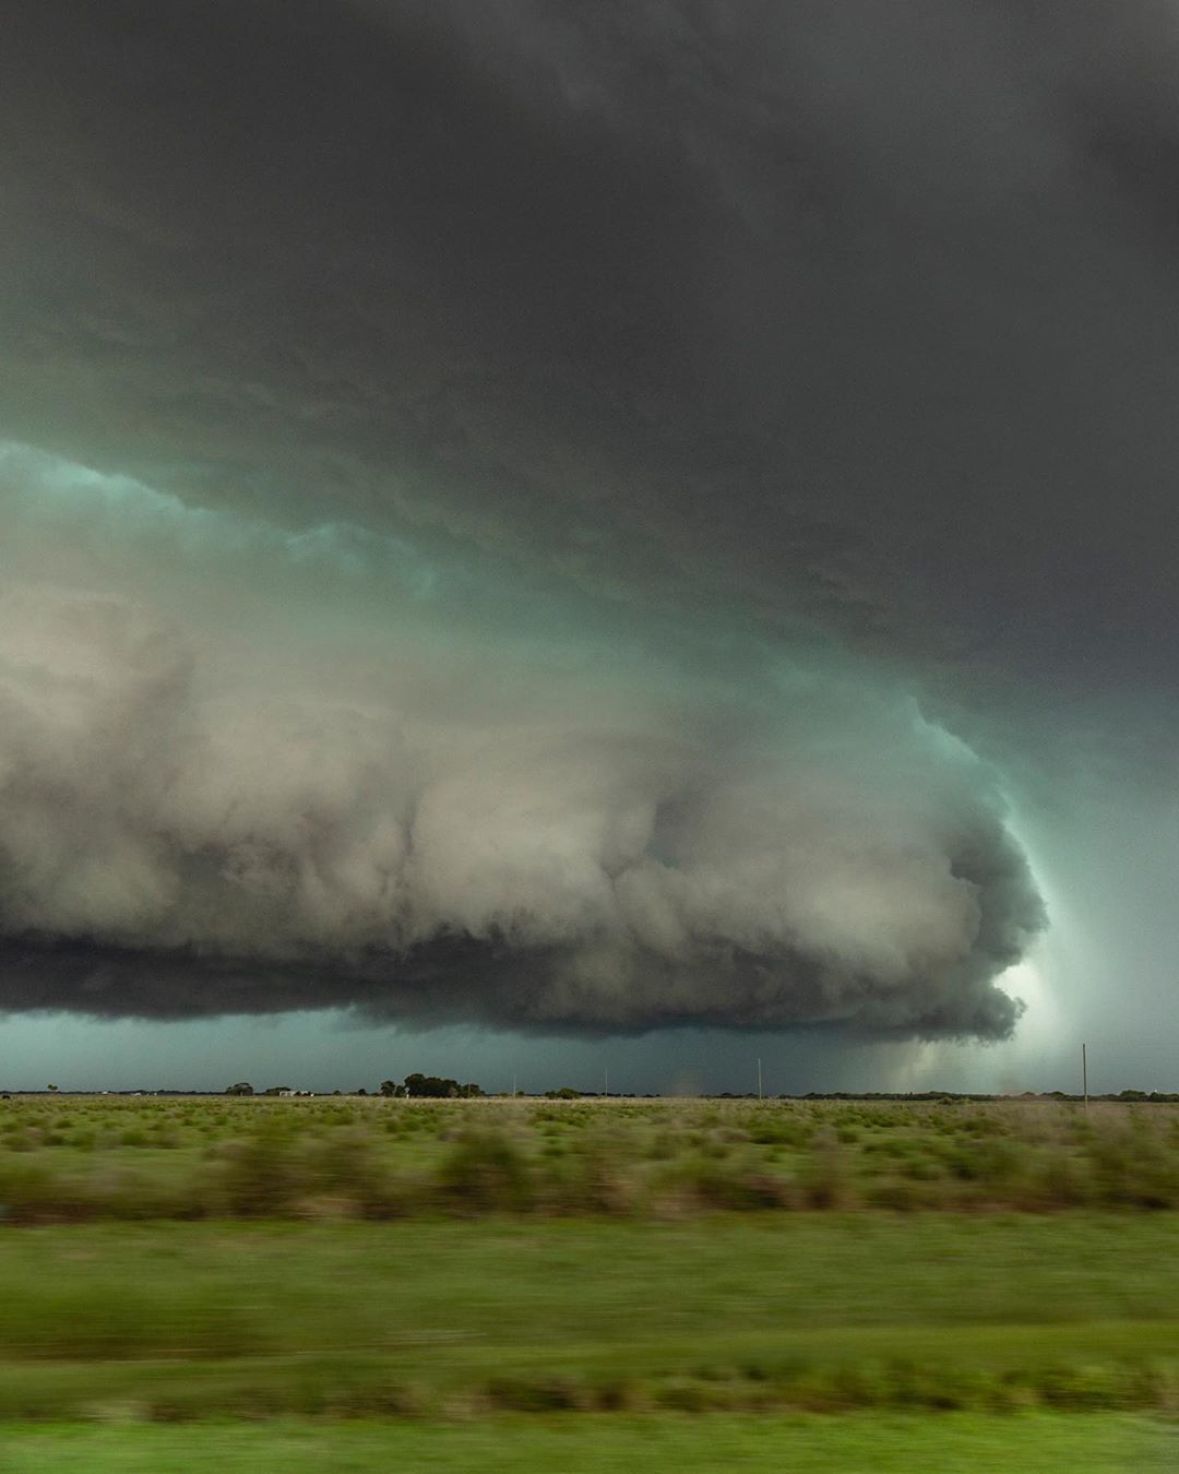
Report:
[{"label": "narrow bright green blurred grass strip along the bottom edge", "polygon": [[143,1424],[0,1430],[0,1474],[1126,1474],[1172,1470],[1175,1428],[1124,1417],[489,1418],[472,1424]]}]

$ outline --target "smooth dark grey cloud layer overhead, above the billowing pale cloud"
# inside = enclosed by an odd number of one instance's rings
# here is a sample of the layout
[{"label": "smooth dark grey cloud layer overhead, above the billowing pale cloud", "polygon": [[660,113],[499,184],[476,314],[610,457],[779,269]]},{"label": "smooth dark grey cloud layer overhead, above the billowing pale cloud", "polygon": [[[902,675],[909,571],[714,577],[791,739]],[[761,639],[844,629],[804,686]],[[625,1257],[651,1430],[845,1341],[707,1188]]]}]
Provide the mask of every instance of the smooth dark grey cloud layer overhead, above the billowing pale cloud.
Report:
[{"label": "smooth dark grey cloud layer overhead, above the billowing pale cloud", "polygon": [[7,10],[18,438],[889,649],[1170,621],[1167,6]]}]

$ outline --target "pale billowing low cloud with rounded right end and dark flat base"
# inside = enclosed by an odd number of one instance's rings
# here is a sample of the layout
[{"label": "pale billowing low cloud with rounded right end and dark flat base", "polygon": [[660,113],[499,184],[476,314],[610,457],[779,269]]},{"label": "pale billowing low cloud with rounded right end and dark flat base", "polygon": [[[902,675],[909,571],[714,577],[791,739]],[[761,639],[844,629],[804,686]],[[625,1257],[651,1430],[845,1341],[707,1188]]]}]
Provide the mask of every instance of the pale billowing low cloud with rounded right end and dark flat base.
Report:
[{"label": "pale billowing low cloud with rounded right end and dark flat base", "polygon": [[834,657],[732,671],[19,450],[0,525],[7,1008],[1014,1026],[995,774]]}]

